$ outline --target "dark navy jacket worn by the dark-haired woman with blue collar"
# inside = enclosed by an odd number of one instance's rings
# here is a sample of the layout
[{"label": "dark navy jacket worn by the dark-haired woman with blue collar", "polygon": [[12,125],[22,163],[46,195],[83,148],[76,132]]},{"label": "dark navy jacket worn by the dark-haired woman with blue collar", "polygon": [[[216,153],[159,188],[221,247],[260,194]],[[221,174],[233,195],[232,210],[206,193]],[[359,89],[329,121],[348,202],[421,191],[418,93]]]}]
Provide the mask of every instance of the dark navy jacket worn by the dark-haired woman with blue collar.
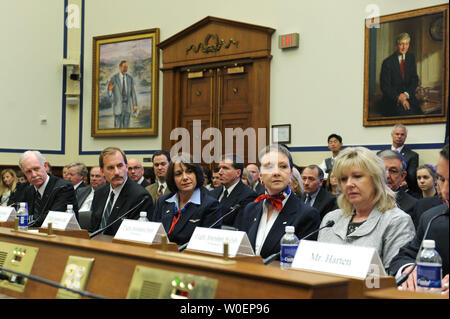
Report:
[{"label": "dark navy jacket worn by the dark-haired woman with blue collar", "polygon": [[[166,199],[174,194],[164,194],[158,198],[155,212],[151,218],[152,221],[162,223],[166,232],[169,232],[172,225],[175,209],[175,203],[168,203]],[[181,214],[173,231],[167,235],[171,242],[178,245],[187,243],[191,239],[195,227],[210,227],[222,216],[219,202],[209,195],[209,191],[201,188],[200,194],[200,205],[189,204]],[[221,225],[222,223],[219,221],[213,228],[220,228]]]}]

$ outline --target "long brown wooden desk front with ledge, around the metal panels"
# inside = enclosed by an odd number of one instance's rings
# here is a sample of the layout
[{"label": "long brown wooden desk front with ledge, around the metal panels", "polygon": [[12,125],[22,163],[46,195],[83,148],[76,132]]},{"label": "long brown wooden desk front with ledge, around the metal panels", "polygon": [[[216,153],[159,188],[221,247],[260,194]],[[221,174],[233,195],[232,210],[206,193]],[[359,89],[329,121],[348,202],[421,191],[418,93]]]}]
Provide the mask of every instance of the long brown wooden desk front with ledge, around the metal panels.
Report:
[{"label": "long brown wooden desk front with ledge, around the metal panels", "polygon": [[[208,257],[205,262],[190,258],[189,253],[162,252],[110,243],[107,239],[61,235],[45,238],[0,228],[0,242],[39,248],[31,274],[55,282],[61,281],[69,256],[95,258],[86,290],[109,298],[126,298],[137,265],[217,279],[215,298],[346,298],[348,295],[349,280],[344,278],[281,270],[240,260],[223,264],[216,257]],[[56,288],[32,280],[28,280],[23,294],[0,288],[0,293],[16,298],[55,298],[56,292]]]}]

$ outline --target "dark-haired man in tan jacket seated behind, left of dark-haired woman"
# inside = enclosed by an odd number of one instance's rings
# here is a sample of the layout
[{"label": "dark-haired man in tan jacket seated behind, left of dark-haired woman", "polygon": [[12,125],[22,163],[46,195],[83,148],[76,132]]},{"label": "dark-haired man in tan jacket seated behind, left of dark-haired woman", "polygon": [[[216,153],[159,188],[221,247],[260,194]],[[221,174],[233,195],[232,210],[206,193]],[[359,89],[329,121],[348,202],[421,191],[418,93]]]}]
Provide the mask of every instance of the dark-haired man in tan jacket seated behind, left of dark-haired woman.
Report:
[{"label": "dark-haired man in tan jacket seated behind, left of dark-haired woman", "polygon": [[167,187],[167,169],[170,163],[170,153],[164,150],[156,151],[152,156],[153,169],[156,182],[145,189],[152,195],[153,204],[156,204],[159,196],[170,193]]}]

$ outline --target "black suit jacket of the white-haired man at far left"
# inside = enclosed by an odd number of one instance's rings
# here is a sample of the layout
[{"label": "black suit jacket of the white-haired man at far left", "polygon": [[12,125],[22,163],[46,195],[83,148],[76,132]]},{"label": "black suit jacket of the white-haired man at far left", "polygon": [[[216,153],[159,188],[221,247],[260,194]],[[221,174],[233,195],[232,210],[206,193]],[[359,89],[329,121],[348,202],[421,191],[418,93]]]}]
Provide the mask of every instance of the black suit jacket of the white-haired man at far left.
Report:
[{"label": "black suit jacket of the white-haired man at far left", "polygon": [[32,184],[28,185],[25,190],[24,199],[28,203],[29,215],[33,215],[32,226],[34,227],[42,225],[49,211],[65,212],[69,204],[73,205],[73,210],[78,219],[78,203],[73,185],[58,176],[49,174],[48,178],[49,181],[42,196],[42,207],[37,216],[34,216],[34,202],[37,191]]}]

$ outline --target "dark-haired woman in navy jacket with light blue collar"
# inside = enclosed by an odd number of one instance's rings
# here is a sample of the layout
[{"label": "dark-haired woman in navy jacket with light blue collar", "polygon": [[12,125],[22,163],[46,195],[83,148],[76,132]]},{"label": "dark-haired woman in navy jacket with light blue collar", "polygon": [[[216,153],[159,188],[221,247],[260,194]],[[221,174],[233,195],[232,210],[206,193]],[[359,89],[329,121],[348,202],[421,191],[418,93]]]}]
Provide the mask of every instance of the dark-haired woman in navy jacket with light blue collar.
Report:
[{"label": "dark-haired woman in navy jacket with light blue collar", "polygon": [[[195,227],[210,227],[222,216],[219,202],[202,187],[203,170],[191,156],[172,158],[167,171],[171,193],[156,202],[152,221],[161,222],[169,241],[178,245],[189,242]],[[219,221],[214,228],[220,228]]]}]

